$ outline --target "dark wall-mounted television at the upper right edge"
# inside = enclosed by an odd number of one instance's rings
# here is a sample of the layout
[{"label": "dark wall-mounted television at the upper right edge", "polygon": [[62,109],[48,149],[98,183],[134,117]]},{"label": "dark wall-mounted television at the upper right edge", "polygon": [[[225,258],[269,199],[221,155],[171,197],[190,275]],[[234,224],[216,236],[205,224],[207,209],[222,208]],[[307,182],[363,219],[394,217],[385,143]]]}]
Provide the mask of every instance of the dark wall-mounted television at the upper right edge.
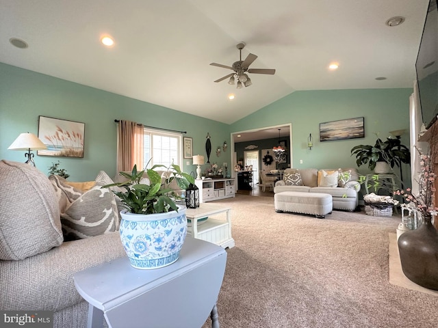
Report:
[{"label": "dark wall-mounted television at the upper right edge", "polygon": [[423,123],[429,128],[438,115],[438,8],[430,0],[415,63]]}]

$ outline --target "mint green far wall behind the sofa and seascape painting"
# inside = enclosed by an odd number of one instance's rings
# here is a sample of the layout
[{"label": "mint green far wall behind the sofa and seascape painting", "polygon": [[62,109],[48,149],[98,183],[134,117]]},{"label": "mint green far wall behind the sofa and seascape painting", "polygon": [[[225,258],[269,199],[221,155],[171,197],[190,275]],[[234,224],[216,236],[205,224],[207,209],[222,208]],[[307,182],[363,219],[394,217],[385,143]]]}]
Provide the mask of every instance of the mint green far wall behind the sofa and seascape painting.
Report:
[{"label": "mint green far wall behind the sofa and seascape painting", "polygon": [[[406,128],[402,143],[409,146],[409,96],[412,92],[409,88],[294,92],[231,124],[231,133],[292,123],[293,167],[357,167],[350,150],[358,144],[374,145],[374,133],[386,139],[389,131]],[[365,138],[319,141],[321,122],[362,116],[365,118]],[[309,133],[313,136],[312,150],[307,148]],[[359,172],[368,173],[368,167],[361,166]]]}]

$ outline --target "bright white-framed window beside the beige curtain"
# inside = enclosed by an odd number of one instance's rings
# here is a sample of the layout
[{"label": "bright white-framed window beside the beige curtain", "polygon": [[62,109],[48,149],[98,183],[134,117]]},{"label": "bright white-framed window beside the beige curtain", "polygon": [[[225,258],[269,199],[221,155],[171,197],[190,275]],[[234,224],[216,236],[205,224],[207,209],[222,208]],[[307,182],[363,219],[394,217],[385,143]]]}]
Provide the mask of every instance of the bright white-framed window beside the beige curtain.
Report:
[{"label": "bright white-framed window beside the beige curtain", "polygon": [[161,164],[168,167],[174,163],[181,166],[181,135],[144,128],[144,165],[149,160],[148,168]]}]

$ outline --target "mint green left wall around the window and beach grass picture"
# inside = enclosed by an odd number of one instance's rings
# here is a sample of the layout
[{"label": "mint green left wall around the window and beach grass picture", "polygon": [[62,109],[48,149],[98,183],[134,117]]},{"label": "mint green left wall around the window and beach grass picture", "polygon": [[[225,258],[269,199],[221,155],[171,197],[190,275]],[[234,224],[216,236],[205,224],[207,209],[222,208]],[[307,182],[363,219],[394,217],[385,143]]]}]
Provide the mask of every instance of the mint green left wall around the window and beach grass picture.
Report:
[{"label": "mint green left wall around the window and beach grass picture", "polygon": [[[38,134],[39,115],[86,124],[83,159],[35,156],[36,166],[44,173],[52,162],[60,160],[60,166],[70,174],[68,180],[94,180],[100,170],[116,174],[115,119],[187,131],[184,136],[193,138],[194,154],[204,156],[209,133],[211,162],[230,163],[230,148],[220,158],[214,152],[224,141],[230,142],[227,124],[0,63],[0,159],[25,161],[24,151],[8,147],[20,133]],[[192,159],[184,159],[183,169],[196,172],[196,165]]]}]

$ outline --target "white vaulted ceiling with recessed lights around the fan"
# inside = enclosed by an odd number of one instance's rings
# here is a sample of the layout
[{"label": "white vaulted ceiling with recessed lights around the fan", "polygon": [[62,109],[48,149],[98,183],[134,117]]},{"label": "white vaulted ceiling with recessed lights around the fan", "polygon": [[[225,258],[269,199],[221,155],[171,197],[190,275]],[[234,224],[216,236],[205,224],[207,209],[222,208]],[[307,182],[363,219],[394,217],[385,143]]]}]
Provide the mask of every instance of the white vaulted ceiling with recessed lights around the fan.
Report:
[{"label": "white vaulted ceiling with recessed lights around the fan", "polygon": [[[428,0],[0,0],[0,61],[233,123],[296,90],[412,87]],[[392,16],[404,16],[387,27]],[[109,34],[116,44],[99,42]],[[10,38],[29,44],[18,49]],[[258,55],[253,85],[226,68]],[[331,61],[339,69],[329,71]],[[376,81],[376,77],[387,77]],[[227,95],[234,93],[235,99]]]}]

